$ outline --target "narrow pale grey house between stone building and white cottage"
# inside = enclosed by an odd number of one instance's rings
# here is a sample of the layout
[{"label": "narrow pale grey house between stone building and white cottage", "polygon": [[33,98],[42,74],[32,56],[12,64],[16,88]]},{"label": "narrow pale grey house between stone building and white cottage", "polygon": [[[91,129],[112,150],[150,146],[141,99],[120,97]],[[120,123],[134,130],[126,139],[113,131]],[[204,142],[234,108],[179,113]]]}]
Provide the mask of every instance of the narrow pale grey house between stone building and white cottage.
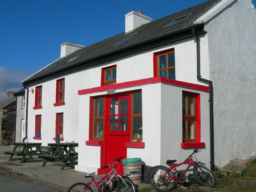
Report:
[{"label": "narrow pale grey house between stone building and white cottage", "polygon": [[22,142],[25,138],[25,89],[13,95],[17,98],[15,142]]}]

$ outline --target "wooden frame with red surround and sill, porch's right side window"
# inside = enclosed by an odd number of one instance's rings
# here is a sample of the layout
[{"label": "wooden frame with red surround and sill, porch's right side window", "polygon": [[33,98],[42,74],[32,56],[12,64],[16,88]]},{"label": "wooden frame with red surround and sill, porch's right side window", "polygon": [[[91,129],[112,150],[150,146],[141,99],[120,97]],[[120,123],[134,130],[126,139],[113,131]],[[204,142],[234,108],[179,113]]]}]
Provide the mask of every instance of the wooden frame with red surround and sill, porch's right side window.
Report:
[{"label": "wooden frame with red surround and sill, porch's right side window", "polygon": [[[192,93],[189,91],[182,91],[182,97],[188,96],[193,97],[194,99],[194,115],[187,115],[188,108],[186,109],[186,114],[182,114],[182,121],[183,119],[186,120],[195,120],[195,139],[184,139],[182,134],[182,143],[181,148],[195,148],[195,147],[205,147],[205,143],[201,142],[201,109],[200,109],[200,94]],[[186,99],[186,104],[188,106],[188,99]],[[188,124],[186,122],[186,124]],[[183,124],[182,124],[183,126]],[[186,126],[188,127],[188,126]],[[183,129],[183,127],[182,127]],[[186,136],[188,136],[188,129],[186,130]]]}]

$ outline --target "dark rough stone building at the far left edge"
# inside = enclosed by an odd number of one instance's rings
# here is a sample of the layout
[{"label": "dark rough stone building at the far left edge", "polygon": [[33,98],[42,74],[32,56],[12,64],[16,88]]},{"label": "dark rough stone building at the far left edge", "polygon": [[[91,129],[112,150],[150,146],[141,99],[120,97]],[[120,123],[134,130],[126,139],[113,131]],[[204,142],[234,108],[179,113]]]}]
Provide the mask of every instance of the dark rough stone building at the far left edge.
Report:
[{"label": "dark rough stone building at the far left edge", "polygon": [[14,91],[7,91],[6,97],[0,102],[0,143],[14,143],[16,98]]}]

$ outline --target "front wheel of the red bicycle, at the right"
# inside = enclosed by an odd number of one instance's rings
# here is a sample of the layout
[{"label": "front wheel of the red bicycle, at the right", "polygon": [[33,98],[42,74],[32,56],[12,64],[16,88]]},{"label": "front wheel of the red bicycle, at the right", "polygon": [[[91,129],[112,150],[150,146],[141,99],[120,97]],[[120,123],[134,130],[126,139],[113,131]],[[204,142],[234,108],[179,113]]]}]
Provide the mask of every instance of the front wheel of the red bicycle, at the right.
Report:
[{"label": "front wheel of the red bicycle, at the right", "polygon": [[193,169],[197,182],[202,186],[214,187],[216,180],[211,171],[202,165],[195,165]]}]

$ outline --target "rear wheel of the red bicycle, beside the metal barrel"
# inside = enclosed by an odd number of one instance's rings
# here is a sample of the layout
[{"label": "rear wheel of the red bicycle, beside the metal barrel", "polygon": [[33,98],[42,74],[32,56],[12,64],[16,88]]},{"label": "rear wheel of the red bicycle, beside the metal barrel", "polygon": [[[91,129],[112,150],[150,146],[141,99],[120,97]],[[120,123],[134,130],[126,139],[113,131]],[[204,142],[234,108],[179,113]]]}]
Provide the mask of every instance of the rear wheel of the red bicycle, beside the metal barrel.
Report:
[{"label": "rear wheel of the red bicycle, beside the metal barrel", "polygon": [[[150,183],[156,191],[167,192],[173,190],[176,186],[176,179],[166,180],[168,178],[162,177],[167,172],[167,170],[167,167],[158,165],[152,167],[149,171]],[[169,171],[166,177],[174,177],[173,172]]]}]

